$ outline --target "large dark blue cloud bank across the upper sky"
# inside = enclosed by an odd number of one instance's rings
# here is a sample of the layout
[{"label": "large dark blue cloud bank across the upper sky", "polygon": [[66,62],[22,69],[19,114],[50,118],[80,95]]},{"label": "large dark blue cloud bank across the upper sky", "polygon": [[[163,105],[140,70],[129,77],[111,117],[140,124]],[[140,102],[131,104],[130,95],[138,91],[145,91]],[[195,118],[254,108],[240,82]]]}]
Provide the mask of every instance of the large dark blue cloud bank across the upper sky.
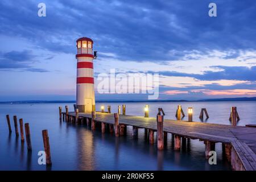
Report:
[{"label": "large dark blue cloud bank across the upper sky", "polygon": [[37,16],[39,1],[1,1],[0,33],[65,53],[74,53],[75,40],[88,36],[99,52],[135,61],[178,59],[194,49],[256,49],[254,0],[214,0],[217,18],[208,16],[209,0],[44,2],[46,18]]}]

